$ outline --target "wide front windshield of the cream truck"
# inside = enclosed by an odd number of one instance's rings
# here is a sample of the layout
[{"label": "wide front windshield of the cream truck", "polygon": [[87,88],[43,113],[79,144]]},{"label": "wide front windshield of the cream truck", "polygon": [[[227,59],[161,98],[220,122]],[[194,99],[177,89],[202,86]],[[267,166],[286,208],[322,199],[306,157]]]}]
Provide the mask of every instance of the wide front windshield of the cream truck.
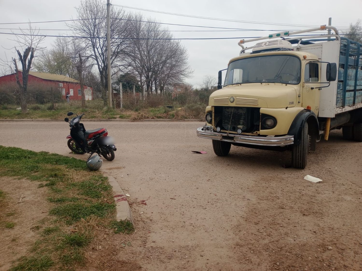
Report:
[{"label": "wide front windshield of the cream truck", "polygon": [[243,83],[299,84],[300,60],[290,55],[257,56],[229,64],[224,86]]}]

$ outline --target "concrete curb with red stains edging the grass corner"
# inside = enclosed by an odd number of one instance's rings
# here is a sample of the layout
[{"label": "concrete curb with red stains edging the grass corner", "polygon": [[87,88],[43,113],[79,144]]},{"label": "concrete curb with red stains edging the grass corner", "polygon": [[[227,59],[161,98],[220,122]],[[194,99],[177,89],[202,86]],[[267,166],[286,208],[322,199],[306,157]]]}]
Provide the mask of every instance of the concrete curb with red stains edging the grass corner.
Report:
[{"label": "concrete curb with red stains edging the grass corner", "polygon": [[105,175],[108,177],[109,184],[113,188],[113,198],[115,201],[115,209],[116,209],[116,219],[120,220],[129,220],[132,222],[133,226],[135,225],[131,207],[127,201],[127,197],[123,192],[121,186],[119,186],[118,182],[114,177],[110,176],[107,171],[102,171],[106,173]]}]

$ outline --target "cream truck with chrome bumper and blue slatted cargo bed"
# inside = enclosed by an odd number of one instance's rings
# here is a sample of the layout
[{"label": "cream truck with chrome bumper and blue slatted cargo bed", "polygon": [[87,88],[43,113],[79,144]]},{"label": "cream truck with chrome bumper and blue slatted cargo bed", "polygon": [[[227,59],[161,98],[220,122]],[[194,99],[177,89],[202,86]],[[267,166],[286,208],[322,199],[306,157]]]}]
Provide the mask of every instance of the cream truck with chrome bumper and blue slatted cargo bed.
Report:
[{"label": "cream truck with chrome bumper and blue slatted cargo bed", "polygon": [[[326,29],[334,34],[310,33]],[[307,35],[296,36],[301,33]],[[223,86],[219,71],[206,124],[197,129],[198,137],[212,139],[216,155],[228,155],[231,145],[290,150],[292,166],[305,168],[308,152],[332,129],[362,141],[362,44],[324,25],[241,40],[239,46]]]}]

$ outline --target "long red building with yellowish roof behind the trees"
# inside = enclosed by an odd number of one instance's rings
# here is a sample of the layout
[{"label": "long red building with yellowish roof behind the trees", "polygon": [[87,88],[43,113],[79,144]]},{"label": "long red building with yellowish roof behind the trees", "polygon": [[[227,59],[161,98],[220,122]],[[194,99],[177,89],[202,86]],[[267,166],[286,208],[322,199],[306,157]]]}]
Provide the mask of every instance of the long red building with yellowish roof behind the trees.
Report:
[{"label": "long red building with yellowish roof behind the trees", "polygon": [[[21,72],[19,72],[19,78],[21,81]],[[15,73],[1,76],[0,84],[3,83],[16,83]],[[49,88],[53,87],[54,90],[58,89],[62,93],[62,98],[64,100],[66,99],[67,93],[70,94],[71,100],[82,99],[79,81],[61,74],[29,72],[28,84],[42,84],[43,86],[49,86]],[[93,100],[92,87],[84,85],[83,88],[85,99]]]}]

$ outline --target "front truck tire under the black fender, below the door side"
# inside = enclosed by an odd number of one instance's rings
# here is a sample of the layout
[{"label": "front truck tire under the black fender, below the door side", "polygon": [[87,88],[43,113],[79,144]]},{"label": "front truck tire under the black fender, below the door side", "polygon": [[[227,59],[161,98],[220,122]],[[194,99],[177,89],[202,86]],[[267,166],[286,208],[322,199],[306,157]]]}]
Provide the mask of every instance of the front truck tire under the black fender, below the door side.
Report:
[{"label": "front truck tire under the black fender, below the door side", "polygon": [[294,168],[305,168],[309,152],[309,134],[308,123],[304,122],[304,127],[300,137],[300,144],[293,146],[292,149],[292,166]]}]

